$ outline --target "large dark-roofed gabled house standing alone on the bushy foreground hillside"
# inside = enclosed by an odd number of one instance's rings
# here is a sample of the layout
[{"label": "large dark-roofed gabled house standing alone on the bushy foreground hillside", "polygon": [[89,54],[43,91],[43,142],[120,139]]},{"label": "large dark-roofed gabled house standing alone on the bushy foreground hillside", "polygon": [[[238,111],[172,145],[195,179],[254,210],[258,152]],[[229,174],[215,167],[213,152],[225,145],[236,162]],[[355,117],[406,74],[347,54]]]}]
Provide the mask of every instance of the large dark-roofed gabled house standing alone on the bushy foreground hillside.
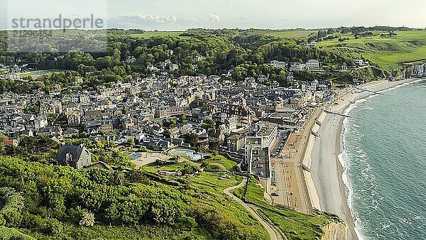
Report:
[{"label": "large dark-roofed gabled house standing alone on the bushy foreground hillside", "polygon": [[92,165],[92,157],[84,146],[61,146],[55,156],[58,165],[81,169]]}]

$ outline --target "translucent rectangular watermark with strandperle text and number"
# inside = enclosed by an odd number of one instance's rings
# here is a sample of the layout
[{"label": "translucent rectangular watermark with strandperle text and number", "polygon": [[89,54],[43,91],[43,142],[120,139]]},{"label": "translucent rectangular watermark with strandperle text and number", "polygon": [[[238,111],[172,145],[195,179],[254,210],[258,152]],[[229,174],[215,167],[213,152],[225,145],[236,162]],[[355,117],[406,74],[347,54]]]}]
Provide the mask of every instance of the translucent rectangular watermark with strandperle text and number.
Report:
[{"label": "translucent rectangular watermark with strandperle text and number", "polygon": [[8,52],[107,51],[107,0],[10,0],[6,16]]}]

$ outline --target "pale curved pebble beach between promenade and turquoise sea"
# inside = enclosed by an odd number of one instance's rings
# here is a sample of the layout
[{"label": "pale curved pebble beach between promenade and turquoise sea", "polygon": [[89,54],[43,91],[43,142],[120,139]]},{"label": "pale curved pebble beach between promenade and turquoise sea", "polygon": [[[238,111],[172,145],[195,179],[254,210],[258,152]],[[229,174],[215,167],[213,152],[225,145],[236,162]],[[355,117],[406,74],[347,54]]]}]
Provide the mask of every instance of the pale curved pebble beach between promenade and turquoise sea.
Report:
[{"label": "pale curved pebble beach between promenade and turquoise sea", "polygon": [[[400,80],[396,82],[378,81],[364,84],[361,87],[369,91],[381,92],[391,89],[401,84],[413,82],[415,80]],[[356,101],[366,99],[373,92],[361,92],[359,89],[345,89],[341,91],[338,99],[334,100],[338,104],[329,105],[329,109],[344,114]],[[324,114],[324,112],[323,112]],[[356,232],[356,219],[351,212],[351,202],[345,171],[346,166],[339,159],[344,153],[343,133],[344,119],[346,117],[335,114],[326,114],[320,121],[321,126],[313,144],[308,144],[305,159],[308,159],[312,173],[305,175],[308,192],[312,206],[324,212],[337,214],[344,219],[349,227],[348,239],[359,239]]]}]

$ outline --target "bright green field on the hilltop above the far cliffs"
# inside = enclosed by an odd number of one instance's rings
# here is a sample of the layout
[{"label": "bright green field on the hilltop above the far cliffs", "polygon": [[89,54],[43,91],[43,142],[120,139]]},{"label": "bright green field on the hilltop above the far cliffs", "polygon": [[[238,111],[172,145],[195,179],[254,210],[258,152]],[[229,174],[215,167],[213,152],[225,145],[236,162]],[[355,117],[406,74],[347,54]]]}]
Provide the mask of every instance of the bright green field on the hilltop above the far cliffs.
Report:
[{"label": "bright green field on the hilltop above the far cliffs", "polygon": [[373,31],[374,36],[355,39],[353,35],[333,33],[332,36],[349,38],[340,42],[338,38],[318,43],[322,48],[351,48],[385,70],[392,71],[406,62],[417,62],[426,59],[426,31],[395,31],[398,36],[381,38],[383,31]]}]

